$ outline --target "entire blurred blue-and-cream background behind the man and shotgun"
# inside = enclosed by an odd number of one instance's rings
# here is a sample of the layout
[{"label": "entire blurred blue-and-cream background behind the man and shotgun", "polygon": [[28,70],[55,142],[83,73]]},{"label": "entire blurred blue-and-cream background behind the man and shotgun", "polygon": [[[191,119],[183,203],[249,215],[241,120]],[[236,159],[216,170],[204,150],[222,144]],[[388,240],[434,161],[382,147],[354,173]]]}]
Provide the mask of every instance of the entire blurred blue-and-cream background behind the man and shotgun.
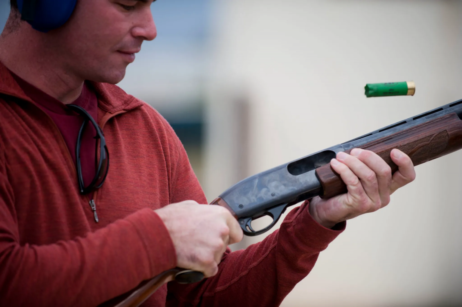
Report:
[{"label": "entire blurred blue-and-cream background behind the man and shotgun", "polygon": [[[158,0],[152,12],[158,37],[120,86],[169,120],[209,201],[462,98],[460,1]],[[405,80],[415,96],[364,96]],[[389,206],[349,221],[282,306],[462,306],[461,158],[420,165]]]}]

